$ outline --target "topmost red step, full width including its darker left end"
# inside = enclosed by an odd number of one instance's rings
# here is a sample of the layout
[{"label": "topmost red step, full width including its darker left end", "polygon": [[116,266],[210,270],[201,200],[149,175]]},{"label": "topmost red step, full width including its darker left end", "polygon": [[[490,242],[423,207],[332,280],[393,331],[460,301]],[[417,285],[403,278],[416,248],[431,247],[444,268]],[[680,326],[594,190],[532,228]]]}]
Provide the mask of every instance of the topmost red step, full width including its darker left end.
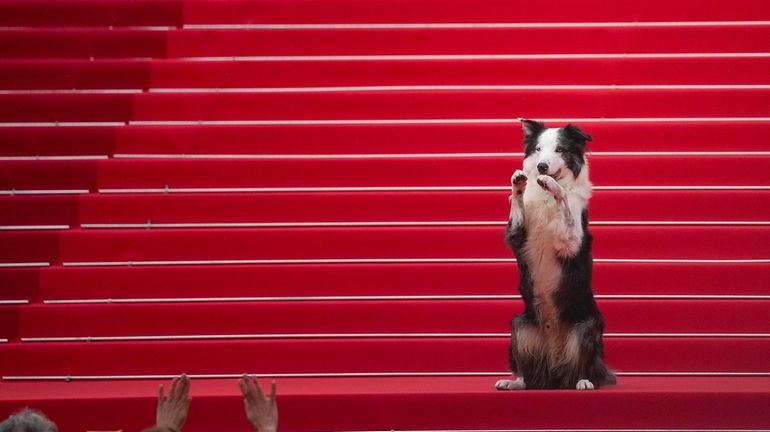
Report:
[{"label": "topmost red step, full width including its darker left end", "polygon": [[367,1],[305,2],[302,7],[276,0],[56,0],[5,1],[4,26],[177,26],[211,23],[456,23],[583,22],[583,21],[713,21],[767,19],[764,3],[741,0],[622,4],[592,0],[580,5],[543,2],[534,8],[523,1]]}]

